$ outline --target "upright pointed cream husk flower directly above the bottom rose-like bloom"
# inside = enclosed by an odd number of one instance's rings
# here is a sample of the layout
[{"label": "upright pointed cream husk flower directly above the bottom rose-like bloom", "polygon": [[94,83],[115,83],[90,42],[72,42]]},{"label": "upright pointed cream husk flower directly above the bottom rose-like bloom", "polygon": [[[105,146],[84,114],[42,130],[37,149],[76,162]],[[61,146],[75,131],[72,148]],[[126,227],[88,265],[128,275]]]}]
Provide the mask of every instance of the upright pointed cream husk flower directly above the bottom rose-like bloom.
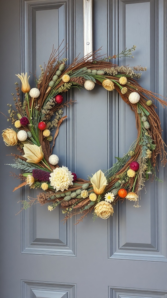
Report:
[{"label": "upright pointed cream husk flower directly above the bottom rose-like bloom", "polygon": [[97,195],[101,195],[107,185],[107,179],[101,170],[97,171],[93,175],[93,177],[90,179],[90,182],[92,183],[93,190]]}]

